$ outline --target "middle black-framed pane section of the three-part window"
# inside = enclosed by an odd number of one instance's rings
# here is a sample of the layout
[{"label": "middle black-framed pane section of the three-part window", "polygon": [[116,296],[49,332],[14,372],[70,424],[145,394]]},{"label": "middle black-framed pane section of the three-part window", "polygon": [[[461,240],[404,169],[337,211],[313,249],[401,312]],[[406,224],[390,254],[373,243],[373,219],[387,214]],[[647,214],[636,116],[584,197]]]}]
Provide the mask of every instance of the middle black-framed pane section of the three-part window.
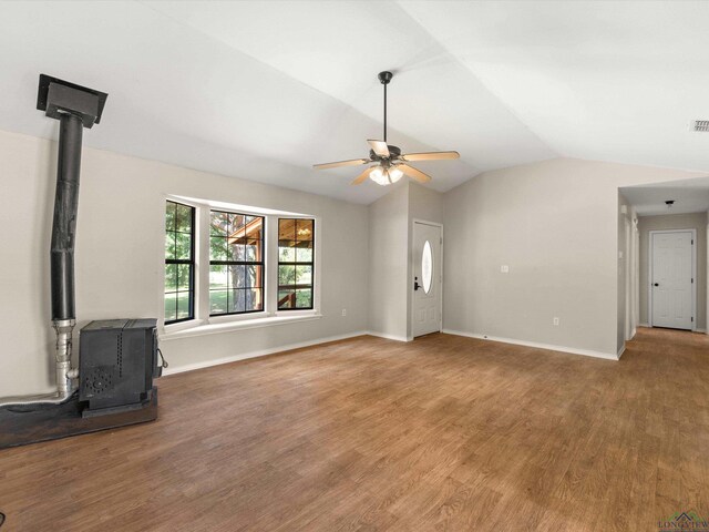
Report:
[{"label": "middle black-framed pane section of the three-part window", "polygon": [[209,315],[264,310],[265,218],[209,213]]}]

